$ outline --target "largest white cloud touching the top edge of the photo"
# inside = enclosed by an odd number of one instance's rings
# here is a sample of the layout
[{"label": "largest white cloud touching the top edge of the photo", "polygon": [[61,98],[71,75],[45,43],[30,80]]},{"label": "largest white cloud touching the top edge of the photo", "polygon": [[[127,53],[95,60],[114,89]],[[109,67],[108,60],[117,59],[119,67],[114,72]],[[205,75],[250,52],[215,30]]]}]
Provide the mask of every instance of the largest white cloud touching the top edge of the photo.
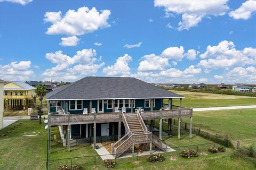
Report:
[{"label": "largest white cloud touching the top edge of the photo", "polygon": [[[224,15],[229,7],[225,1],[161,1],[155,0],[155,6],[165,8],[167,16],[170,14],[182,14],[178,30],[189,30],[195,27],[203,18],[209,15]],[[166,18],[168,18],[166,16]]]}]

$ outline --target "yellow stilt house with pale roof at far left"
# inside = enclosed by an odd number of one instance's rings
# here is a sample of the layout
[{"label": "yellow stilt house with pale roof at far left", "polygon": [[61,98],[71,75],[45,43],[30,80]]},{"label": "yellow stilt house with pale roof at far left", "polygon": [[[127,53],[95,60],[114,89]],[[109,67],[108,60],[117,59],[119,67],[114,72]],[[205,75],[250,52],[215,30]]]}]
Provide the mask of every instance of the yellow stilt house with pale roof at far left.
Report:
[{"label": "yellow stilt house with pale roof at far left", "polygon": [[9,81],[4,83],[5,111],[14,108],[28,108],[35,106],[35,89],[22,81]]}]

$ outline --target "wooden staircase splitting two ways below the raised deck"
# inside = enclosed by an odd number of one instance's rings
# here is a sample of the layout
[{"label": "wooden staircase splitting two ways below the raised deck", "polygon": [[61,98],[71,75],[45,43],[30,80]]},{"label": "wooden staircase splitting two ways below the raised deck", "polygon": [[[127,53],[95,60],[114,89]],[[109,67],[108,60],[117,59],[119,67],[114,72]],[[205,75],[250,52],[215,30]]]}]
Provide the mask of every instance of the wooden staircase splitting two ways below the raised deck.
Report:
[{"label": "wooden staircase splitting two ways below the raised deck", "polygon": [[167,151],[169,148],[164,141],[147,130],[139,112],[135,114],[122,113],[122,119],[127,133],[123,138],[111,145],[111,154],[115,154],[115,158],[121,156],[123,152],[134,144],[150,143],[150,150],[151,143],[162,151]]}]

